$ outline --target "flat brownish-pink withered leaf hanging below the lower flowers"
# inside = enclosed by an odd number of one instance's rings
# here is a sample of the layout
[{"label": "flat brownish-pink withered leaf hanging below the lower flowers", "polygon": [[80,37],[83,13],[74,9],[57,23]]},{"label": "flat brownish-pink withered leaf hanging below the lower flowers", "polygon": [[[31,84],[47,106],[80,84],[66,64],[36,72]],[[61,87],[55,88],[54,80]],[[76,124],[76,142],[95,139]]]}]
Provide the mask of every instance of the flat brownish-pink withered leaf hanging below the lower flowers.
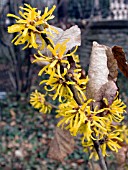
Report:
[{"label": "flat brownish-pink withered leaf hanging below the lower flowers", "polygon": [[50,143],[48,157],[63,161],[64,158],[74,150],[74,138],[69,131],[56,127],[54,139]]}]

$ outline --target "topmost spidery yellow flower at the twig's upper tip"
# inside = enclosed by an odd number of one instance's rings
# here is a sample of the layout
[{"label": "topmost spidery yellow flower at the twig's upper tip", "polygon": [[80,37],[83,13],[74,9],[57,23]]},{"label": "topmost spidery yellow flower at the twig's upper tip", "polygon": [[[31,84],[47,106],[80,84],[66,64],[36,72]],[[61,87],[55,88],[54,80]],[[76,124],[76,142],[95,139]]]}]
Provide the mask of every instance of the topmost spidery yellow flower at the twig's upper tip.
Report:
[{"label": "topmost spidery yellow flower at the twig's upper tip", "polygon": [[[54,5],[50,11],[48,7],[45,8],[44,14],[41,16],[41,11],[36,12],[36,8],[32,8],[30,5],[25,4],[25,8],[20,7],[24,12],[19,11],[21,16],[18,17],[14,14],[7,14],[8,17],[16,18],[16,24],[8,27],[9,33],[19,32],[19,34],[12,40],[15,45],[24,44],[27,42],[27,45],[23,48],[33,47],[38,48],[36,43],[37,37],[42,41],[42,48],[45,46],[45,41],[41,37],[41,33],[49,34],[47,28],[52,29],[47,23],[48,20],[53,19],[52,15],[56,6]],[[42,26],[42,30],[39,29],[39,26]]]}]

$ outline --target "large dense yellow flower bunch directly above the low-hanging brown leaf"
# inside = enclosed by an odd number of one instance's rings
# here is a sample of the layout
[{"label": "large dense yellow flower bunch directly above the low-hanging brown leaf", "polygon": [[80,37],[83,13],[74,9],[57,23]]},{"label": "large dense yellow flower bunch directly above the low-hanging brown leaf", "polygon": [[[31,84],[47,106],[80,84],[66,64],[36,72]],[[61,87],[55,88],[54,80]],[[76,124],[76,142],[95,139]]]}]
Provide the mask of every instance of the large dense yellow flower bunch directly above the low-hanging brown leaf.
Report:
[{"label": "large dense yellow flower bunch directly above the low-hanging brown leaf", "polygon": [[[65,127],[69,129],[73,136],[78,133],[83,134],[82,142],[84,140],[90,140],[93,138],[92,132],[94,132],[93,127],[99,129],[99,134],[106,133],[105,121],[107,118],[99,117],[96,114],[103,112],[104,109],[93,112],[90,109],[89,104],[93,100],[86,100],[81,106],[79,106],[74,99],[66,103],[62,103],[57,110],[57,118],[61,118],[58,126]],[[94,139],[94,138],[93,138]]]}]

